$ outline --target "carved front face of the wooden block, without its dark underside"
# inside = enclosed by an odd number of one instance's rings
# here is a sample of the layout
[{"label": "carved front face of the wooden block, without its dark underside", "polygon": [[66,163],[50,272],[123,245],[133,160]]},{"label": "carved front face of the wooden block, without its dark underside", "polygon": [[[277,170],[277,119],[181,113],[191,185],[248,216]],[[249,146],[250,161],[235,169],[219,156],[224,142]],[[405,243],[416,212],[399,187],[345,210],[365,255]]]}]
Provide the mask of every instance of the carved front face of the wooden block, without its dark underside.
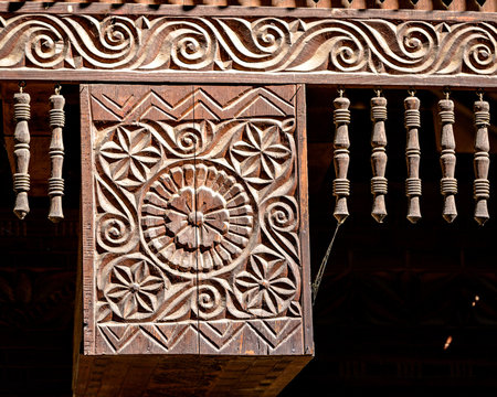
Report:
[{"label": "carved front face of the wooden block, without its dark underside", "polygon": [[296,87],[106,87],[89,96],[102,352],[120,334],[169,351],[179,322],[209,350],[302,337]]}]

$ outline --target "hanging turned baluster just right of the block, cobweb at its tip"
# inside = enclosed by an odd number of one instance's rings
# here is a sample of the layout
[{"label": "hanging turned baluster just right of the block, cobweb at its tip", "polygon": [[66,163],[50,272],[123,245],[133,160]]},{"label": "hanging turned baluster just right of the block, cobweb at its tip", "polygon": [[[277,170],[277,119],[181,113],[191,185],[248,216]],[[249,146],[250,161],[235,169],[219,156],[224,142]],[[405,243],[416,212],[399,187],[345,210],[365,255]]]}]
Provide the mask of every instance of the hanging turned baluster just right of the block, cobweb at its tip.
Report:
[{"label": "hanging turned baluster just right of the block, cobweb at its tip", "polygon": [[334,195],[336,196],[334,216],[339,224],[349,216],[347,197],[350,195],[350,182],[347,179],[349,169],[349,129],[350,100],[343,97],[343,90],[339,89],[339,97],[334,100],[334,122],[336,126],[334,140],[335,181]]}]

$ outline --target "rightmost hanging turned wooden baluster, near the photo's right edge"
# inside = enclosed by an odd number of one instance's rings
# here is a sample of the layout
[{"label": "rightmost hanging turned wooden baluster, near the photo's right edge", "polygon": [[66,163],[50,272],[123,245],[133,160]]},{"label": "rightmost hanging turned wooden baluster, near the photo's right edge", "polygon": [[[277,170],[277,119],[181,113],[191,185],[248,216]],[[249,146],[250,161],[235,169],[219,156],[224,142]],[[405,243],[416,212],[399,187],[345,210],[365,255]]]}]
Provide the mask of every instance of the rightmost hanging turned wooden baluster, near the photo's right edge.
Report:
[{"label": "rightmost hanging turned wooden baluster, near the photo's right edge", "polygon": [[488,142],[488,126],[490,125],[490,105],[483,100],[483,94],[478,93],[479,100],[474,104],[475,111],[475,181],[473,183],[475,205],[475,221],[484,225],[488,221],[487,200],[490,196],[490,182],[488,181],[488,168],[490,165],[490,143]]}]

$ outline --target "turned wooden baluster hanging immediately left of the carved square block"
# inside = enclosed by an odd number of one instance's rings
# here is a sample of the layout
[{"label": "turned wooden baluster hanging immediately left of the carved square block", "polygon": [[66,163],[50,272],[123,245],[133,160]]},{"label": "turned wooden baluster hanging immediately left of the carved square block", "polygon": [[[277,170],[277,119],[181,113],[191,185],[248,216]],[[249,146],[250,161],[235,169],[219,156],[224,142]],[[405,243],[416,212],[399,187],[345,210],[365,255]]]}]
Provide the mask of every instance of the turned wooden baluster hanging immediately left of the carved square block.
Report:
[{"label": "turned wooden baluster hanging immediately left of the carved square block", "polygon": [[62,129],[64,128],[65,99],[60,95],[61,86],[55,87],[55,94],[50,97],[50,127],[52,128],[52,141],[50,142],[50,158],[52,172],[49,179],[50,213],[49,219],[57,223],[64,218],[62,212],[62,196],[64,195],[64,180],[62,179],[62,164],[64,162],[64,142]]}]

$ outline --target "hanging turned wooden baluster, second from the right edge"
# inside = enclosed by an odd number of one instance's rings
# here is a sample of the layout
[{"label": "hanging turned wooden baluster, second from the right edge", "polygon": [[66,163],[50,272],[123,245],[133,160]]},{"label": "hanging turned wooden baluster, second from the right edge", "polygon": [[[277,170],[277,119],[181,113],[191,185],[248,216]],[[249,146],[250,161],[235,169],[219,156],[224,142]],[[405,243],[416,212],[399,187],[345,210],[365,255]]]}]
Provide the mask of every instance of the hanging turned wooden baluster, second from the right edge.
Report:
[{"label": "hanging turned wooden baluster, second from the right edge", "polygon": [[448,92],[445,99],[438,100],[438,116],[442,124],[440,164],[442,167],[442,180],[440,181],[441,193],[444,196],[444,208],[442,216],[448,223],[457,217],[455,194],[457,194],[457,180],[454,178],[456,157],[453,124],[454,101],[448,99]]}]

